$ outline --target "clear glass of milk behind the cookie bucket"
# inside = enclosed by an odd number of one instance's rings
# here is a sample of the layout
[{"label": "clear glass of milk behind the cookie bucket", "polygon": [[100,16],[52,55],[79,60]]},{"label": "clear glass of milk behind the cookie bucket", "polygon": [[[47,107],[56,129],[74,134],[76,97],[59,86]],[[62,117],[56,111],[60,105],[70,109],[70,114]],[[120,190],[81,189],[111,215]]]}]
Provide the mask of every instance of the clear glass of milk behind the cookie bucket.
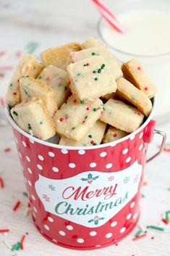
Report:
[{"label": "clear glass of milk behind the cookie bucket", "polygon": [[158,86],[156,119],[170,120],[170,1],[119,0],[112,9],[125,33],[117,33],[101,18],[98,32],[122,62],[137,58]]}]

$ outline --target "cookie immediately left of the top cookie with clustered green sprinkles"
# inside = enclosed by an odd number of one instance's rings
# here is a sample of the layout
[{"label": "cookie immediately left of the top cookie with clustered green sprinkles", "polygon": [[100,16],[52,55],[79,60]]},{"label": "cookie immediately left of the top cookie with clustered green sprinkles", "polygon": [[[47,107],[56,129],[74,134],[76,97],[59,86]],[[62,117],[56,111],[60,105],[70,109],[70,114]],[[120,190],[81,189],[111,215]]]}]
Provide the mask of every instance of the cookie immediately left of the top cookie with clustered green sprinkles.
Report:
[{"label": "cookie immediately left of the top cookie with clustered green sprinkles", "polygon": [[54,89],[56,104],[59,109],[70,94],[69,75],[67,72],[53,65],[48,65],[43,69],[38,79],[43,80],[48,86]]}]

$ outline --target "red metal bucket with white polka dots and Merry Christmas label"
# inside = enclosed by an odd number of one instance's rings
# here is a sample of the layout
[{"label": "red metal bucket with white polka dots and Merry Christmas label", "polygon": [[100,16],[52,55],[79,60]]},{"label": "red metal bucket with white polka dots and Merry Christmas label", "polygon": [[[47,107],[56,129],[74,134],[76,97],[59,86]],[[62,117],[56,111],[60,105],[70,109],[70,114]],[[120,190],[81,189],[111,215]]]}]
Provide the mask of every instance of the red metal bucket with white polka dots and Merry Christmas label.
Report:
[{"label": "red metal bucket with white polka dots and Merry Christmas label", "polygon": [[[114,244],[135,228],[153,112],[129,136],[98,146],[35,139],[12,120],[33,221],[49,241],[71,249]],[[161,149],[160,149],[161,150]],[[158,154],[158,153],[157,153]]]}]

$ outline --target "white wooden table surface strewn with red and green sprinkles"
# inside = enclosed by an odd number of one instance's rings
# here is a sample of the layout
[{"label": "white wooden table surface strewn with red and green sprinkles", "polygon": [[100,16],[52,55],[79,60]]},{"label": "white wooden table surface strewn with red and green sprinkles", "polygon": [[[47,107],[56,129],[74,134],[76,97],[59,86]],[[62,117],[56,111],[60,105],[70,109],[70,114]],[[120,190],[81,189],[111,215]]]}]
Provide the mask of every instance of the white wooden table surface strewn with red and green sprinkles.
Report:
[{"label": "white wooden table surface strewn with red and green sprinkles", "polygon": [[[68,2],[69,8],[67,8]],[[46,19],[43,18],[44,14],[46,14]],[[97,20],[98,12],[88,0],[1,0],[0,51],[5,51],[6,54],[0,57],[0,66],[12,65],[13,67],[17,62],[16,53],[26,51],[26,45],[30,41],[38,42],[36,54],[50,46],[64,44],[68,41],[83,41],[88,36],[98,36],[95,30]],[[12,70],[3,71],[3,74],[0,70],[0,96],[4,95],[11,74]],[[167,142],[170,142],[170,123],[158,128],[166,131]],[[153,144],[150,145],[150,154],[158,150],[158,144],[158,138],[155,138]],[[4,152],[7,148],[11,150]],[[25,191],[25,183],[9,125],[0,127],[0,176],[4,180],[4,189],[0,188],[0,229],[10,229],[7,236],[0,234],[0,256],[15,255],[4,245],[3,240],[8,244],[14,244],[25,232],[28,232],[25,249],[17,252],[16,255],[170,255],[170,224],[163,226],[161,223],[162,213],[170,210],[170,152],[163,152],[161,156],[147,165],[145,179],[148,185],[143,188],[145,197],[142,199],[139,222],[144,227],[161,224],[166,231],[150,230],[145,238],[132,241],[139,230],[136,227],[132,234],[119,242],[118,246],[113,245],[95,251],[75,251],[51,244],[35,229],[30,215],[24,215],[27,206],[27,197],[22,194]],[[17,200],[22,202],[21,206],[13,212],[12,207]],[[151,239],[152,237],[154,239]]]}]

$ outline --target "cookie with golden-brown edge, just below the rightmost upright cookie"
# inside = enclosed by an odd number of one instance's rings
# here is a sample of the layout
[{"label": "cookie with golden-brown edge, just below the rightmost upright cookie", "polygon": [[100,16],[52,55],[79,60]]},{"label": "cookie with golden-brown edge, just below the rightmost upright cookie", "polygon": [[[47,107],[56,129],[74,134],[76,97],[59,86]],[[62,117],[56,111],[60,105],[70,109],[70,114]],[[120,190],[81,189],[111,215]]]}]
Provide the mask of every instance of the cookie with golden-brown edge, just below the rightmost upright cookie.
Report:
[{"label": "cookie with golden-brown edge, just below the rightmost upright cookie", "polygon": [[148,96],[124,78],[119,78],[116,83],[116,94],[124,99],[127,99],[128,102],[131,102],[133,105],[135,105],[135,107],[137,107],[138,110],[143,112],[148,117],[152,110],[152,102]]}]

